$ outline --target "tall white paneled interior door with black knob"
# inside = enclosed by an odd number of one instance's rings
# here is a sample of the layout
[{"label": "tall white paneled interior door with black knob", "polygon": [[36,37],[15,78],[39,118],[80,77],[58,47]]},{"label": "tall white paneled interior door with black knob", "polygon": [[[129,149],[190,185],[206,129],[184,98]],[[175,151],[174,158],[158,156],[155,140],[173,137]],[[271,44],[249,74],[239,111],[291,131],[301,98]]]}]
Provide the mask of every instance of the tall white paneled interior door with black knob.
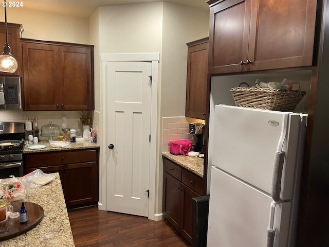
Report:
[{"label": "tall white paneled interior door with black knob", "polygon": [[105,62],[107,210],[148,216],[151,62]]}]

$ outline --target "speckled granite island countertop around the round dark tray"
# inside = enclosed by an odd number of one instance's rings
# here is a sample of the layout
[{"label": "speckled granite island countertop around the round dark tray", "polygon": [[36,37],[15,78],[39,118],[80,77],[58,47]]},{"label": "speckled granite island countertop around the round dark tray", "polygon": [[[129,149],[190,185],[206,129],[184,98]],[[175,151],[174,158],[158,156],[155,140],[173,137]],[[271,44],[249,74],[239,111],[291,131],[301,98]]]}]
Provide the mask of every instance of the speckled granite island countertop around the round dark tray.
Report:
[{"label": "speckled granite island countertop around the round dark tray", "polygon": [[[49,184],[29,189],[29,202],[44,209],[44,218],[30,231],[17,237],[0,241],[4,247],[64,247],[75,246],[66,210],[59,173],[52,173],[55,179]],[[3,182],[5,180],[2,180]],[[27,212],[29,213],[29,212]],[[8,218],[8,220],[10,220]]]}]

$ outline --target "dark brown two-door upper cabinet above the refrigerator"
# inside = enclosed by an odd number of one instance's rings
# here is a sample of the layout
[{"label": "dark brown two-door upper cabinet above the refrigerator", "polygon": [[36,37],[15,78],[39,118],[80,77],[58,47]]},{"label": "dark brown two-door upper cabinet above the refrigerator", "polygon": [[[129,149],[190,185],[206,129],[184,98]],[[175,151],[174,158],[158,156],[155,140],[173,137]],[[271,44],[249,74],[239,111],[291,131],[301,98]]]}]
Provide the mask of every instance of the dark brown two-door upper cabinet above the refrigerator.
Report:
[{"label": "dark brown two-door upper cabinet above the refrigerator", "polygon": [[314,65],[317,1],[207,3],[210,75]]}]

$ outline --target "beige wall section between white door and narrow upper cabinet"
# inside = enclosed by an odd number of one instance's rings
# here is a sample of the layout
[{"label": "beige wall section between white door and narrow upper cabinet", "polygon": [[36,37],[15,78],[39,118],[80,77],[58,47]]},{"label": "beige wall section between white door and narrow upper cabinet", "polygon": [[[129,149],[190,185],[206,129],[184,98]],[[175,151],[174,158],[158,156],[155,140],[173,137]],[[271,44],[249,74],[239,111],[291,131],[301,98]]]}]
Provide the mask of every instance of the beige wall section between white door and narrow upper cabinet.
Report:
[{"label": "beige wall section between white door and narrow upper cabinet", "polygon": [[163,3],[161,117],[185,116],[187,45],[209,36],[209,11]]}]

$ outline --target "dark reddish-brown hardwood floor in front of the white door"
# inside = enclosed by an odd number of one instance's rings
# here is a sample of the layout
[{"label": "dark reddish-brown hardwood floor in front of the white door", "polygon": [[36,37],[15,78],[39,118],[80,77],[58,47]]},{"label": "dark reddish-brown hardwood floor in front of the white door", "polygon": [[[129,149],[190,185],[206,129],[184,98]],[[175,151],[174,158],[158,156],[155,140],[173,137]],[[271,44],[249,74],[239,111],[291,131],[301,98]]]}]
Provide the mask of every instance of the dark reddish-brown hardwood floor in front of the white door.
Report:
[{"label": "dark reddish-brown hardwood floor in front of the white door", "polygon": [[74,242],[79,246],[186,247],[162,220],[89,207],[68,211]]}]

